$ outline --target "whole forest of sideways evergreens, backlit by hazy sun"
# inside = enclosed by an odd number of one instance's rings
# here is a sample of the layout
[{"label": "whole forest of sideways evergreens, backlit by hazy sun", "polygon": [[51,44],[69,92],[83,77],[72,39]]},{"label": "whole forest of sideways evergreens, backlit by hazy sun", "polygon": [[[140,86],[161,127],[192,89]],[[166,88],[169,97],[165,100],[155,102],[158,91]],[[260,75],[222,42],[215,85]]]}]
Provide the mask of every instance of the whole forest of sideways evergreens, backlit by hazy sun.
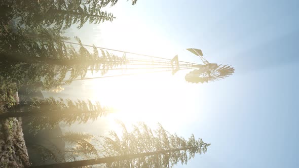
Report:
[{"label": "whole forest of sideways evergreens, backlit by hazy sun", "polygon": [[[141,0],[139,0],[141,1]],[[66,36],[71,26],[113,22],[106,10],[118,0],[4,0],[0,2],[0,167],[173,167],[207,152],[209,143],[193,134],[184,138],[162,124],[146,123],[108,136],[62,133],[59,125],[109,117],[113,110],[90,100],[44,97],[88,73],[109,72],[128,63],[104,49]],[[128,0],[138,8],[137,0]],[[73,39],[76,45],[69,43]],[[89,44],[90,45],[90,44]],[[78,91],[80,92],[80,91]],[[53,131],[54,130],[54,131]],[[39,144],[41,135],[55,134]]]}]

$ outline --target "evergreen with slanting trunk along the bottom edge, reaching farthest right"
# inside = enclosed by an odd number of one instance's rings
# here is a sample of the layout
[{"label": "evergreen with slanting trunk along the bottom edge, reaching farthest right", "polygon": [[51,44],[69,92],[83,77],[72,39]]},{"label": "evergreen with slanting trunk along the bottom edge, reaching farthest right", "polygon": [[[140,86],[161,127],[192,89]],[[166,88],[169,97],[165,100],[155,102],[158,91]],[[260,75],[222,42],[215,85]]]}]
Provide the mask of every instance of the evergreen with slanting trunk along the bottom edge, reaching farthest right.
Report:
[{"label": "evergreen with slanting trunk along the bottom edge, reaching farthest right", "polygon": [[202,139],[195,140],[192,135],[189,140],[169,134],[161,124],[154,132],[144,123],[134,126],[128,132],[123,125],[123,136],[119,138],[115,132],[110,137],[103,137],[102,158],[63,162],[32,167],[79,167],[106,163],[107,167],[173,167],[207,151],[210,144]]}]

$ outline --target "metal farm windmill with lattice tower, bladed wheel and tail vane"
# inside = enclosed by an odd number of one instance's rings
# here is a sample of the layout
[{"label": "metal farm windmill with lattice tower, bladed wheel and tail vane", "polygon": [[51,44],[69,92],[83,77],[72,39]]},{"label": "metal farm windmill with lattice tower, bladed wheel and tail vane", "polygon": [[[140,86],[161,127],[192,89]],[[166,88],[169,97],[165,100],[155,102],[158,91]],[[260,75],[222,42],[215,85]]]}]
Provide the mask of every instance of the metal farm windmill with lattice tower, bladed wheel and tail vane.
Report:
[{"label": "metal farm windmill with lattice tower, bladed wheel and tail vane", "polygon": [[[66,42],[68,43],[68,42]],[[76,43],[70,43],[75,44]],[[79,44],[78,44],[79,45]],[[86,47],[94,47],[89,45],[83,45]],[[171,71],[172,74],[175,74],[179,70],[184,69],[194,69],[193,71],[185,75],[185,80],[192,83],[204,83],[211,82],[215,80],[220,80],[229,75],[233,74],[235,69],[229,65],[218,65],[216,63],[209,63],[204,57],[203,53],[199,49],[186,49],[198,56],[203,64],[192,63],[179,61],[178,55],[174,56],[172,59],[167,59],[163,57],[155,57],[144,54],[137,54],[132,52],[114,50],[96,47],[101,50],[118,52],[121,53],[125,58],[125,61],[122,61],[118,66],[110,67],[109,70],[119,70],[119,73],[113,73],[113,75],[103,75],[99,77],[83,78],[78,80],[85,79],[94,79],[94,78],[103,78],[103,77],[115,77],[115,76],[124,76],[124,75],[135,75],[143,73],[153,73],[153,72],[165,72]],[[136,73],[138,70],[138,73]],[[130,73],[131,72],[131,73]]]}]

